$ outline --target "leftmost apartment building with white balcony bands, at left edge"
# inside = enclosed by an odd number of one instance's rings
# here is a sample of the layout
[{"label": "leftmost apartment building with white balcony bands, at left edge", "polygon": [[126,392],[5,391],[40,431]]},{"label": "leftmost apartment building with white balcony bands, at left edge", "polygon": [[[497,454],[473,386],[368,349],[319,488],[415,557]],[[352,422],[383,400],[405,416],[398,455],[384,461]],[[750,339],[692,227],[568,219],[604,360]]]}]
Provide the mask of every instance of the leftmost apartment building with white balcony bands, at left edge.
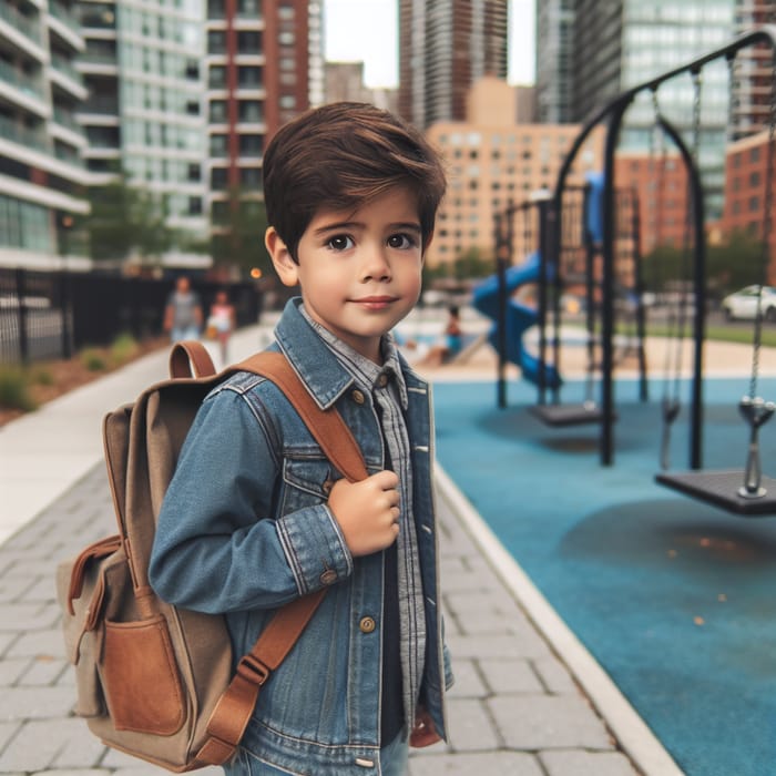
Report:
[{"label": "leftmost apartment building with white balcony bands, at left edge", "polygon": [[0,0],[0,265],[83,263],[72,229],[89,211],[74,119],[86,96],[73,67],[83,49],[73,2]]}]

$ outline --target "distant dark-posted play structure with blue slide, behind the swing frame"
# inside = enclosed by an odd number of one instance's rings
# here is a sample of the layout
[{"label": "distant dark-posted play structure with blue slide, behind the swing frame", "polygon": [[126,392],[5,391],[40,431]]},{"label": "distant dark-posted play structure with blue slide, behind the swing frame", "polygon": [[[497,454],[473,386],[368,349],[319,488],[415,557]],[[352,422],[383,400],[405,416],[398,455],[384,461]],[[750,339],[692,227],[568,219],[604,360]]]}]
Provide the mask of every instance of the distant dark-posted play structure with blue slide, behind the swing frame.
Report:
[{"label": "distant dark-posted play structure with blue slide, behind the swing frame", "polygon": [[[489,341],[499,354],[500,407],[507,404],[504,366],[514,364],[523,379],[534,384],[538,399],[533,413],[550,426],[594,423],[601,420],[596,400],[600,375],[600,256],[602,237],[601,195],[604,177],[589,173],[585,184],[569,187],[563,197],[562,228],[551,224],[551,201],[537,197],[510,205],[497,215],[497,272],[474,289],[474,307],[493,320]],[[639,359],[642,398],[646,399],[644,313],[641,288],[639,202],[630,190],[619,192],[617,248],[626,276],[616,288],[630,303],[627,316],[635,329],[621,347],[621,355]],[[557,244],[555,244],[557,242]],[[549,259],[550,252],[554,258]],[[530,288],[530,300],[515,296]],[[565,325],[566,307],[575,320]],[[625,305],[622,305],[625,308]],[[584,314],[582,319],[582,313]],[[527,335],[531,331],[533,337]],[[584,398],[561,400],[563,347],[583,348]]]}]

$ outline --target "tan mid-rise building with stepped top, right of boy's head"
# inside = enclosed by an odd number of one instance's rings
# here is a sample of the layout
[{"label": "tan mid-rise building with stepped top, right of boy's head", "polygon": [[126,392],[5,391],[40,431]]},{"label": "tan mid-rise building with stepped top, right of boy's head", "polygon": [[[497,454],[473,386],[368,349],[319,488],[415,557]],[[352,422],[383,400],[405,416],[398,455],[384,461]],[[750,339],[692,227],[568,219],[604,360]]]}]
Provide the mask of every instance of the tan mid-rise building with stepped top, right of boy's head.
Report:
[{"label": "tan mid-rise building with stepped top, right of boy's head", "polygon": [[[452,263],[468,251],[494,251],[493,218],[508,205],[554,190],[576,137],[578,124],[518,124],[517,92],[506,81],[483,78],[470,90],[467,120],[437,122],[427,131],[448,170],[448,193],[429,247],[430,266]],[[584,185],[600,171],[603,131],[594,131],[576,155],[569,185]],[[520,229],[518,229],[520,232]],[[521,249],[521,235],[515,234]]]}]

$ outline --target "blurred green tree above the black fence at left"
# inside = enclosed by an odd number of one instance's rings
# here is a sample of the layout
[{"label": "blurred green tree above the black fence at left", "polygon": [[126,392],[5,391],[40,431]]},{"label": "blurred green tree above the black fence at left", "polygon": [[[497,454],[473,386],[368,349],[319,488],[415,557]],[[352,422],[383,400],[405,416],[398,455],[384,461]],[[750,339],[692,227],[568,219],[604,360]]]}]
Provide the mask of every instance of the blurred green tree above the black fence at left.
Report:
[{"label": "blurred green tree above the black fence at left", "polygon": [[89,190],[91,214],[85,219],[91,255],[95,261],[122,261],[133,253],[159,258],[174,244],[165,223],[163,203],[120,174]]}]

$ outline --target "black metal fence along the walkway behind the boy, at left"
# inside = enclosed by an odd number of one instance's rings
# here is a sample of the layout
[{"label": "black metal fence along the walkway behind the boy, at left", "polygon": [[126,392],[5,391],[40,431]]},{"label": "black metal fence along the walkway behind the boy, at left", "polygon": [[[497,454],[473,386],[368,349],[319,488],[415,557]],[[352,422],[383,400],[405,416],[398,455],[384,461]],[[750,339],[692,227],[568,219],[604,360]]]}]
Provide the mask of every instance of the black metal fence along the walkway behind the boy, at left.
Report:
[{"label": "black metal fence along the walkway behind the boy, at left", "polygon": [[[258,321],[263,294],[256,284],[192,278],[192,287],[205,310],[226,289],[237,325]],[[172,289],[171,278],[0,268],[0,364],[69,358],[124,333],[139,340],[159,336]]]}]

